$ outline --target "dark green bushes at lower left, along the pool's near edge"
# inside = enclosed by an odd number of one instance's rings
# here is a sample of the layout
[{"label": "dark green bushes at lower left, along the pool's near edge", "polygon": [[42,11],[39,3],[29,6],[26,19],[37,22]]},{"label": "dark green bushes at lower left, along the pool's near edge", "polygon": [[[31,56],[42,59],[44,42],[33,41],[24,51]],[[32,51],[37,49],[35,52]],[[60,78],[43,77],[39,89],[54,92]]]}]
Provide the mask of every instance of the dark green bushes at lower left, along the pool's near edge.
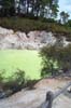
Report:
[{"label": "dark green bushes at lower left, along the pool's near edge", "polygon": [[33,89],[33,85],[38,82],[38,80],[26,78],[25,71],[20,69],[17,69],[9,78],[4,78],[4,75],[5,70],[0,72],[0,89],[4,91],[4,93],[5,91],[11,91],[11,94],[13,94],[24,87]]}]

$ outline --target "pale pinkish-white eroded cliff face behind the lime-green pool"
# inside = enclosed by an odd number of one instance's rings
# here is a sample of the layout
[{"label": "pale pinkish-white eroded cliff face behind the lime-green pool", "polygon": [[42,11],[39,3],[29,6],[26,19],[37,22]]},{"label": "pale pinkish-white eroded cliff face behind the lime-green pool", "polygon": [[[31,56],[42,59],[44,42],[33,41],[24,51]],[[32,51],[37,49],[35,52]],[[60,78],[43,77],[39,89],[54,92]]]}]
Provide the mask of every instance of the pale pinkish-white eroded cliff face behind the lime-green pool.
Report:
[{"label": "pale pinkish-white eroded cliff face behind the lime-green pool", "polygon": [[[66,36],[61,36],[63,43],[67,45],[70,42],[66,41]],[[53,45],[57,41],[56,35],[46,31],[30,31],[28,33],[6,29],[0,27],[0,50],[4,49],[29,49],[39,50],[48,44]]]}]

